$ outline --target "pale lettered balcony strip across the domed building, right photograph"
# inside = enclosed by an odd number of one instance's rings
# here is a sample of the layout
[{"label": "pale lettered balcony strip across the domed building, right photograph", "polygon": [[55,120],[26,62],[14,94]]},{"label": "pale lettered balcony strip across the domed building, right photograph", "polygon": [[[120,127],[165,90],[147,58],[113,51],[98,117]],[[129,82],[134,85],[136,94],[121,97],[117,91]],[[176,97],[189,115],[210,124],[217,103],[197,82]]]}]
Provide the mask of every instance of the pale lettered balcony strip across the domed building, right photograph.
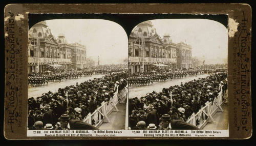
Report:
[{"label": "pale lettered balcony strip across the domed building, right photograph", "polygon": [[154,64],[154,63],[163,63],[163,64],[168,64],[168,63],[172,63],[172,64],[176,64],[176,59],[167,59],[167,58],[152,58],[152,57],[129,57],[128,61],[130,63],[139,63],[139,62],[143,62],[144,63],[150,63],[150,64]]}]

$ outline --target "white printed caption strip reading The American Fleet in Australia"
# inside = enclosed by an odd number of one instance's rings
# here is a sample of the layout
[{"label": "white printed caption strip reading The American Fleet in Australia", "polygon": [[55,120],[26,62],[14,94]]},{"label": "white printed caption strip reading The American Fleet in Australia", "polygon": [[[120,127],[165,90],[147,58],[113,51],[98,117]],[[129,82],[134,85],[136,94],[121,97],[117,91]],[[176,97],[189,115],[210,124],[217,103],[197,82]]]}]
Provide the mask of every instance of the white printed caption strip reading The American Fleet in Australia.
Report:
[{"label": "white printed caption strip reading The American Fleet in Australia", "polygon": [[28,130],[33,137],[228,137],[228,130]]}]

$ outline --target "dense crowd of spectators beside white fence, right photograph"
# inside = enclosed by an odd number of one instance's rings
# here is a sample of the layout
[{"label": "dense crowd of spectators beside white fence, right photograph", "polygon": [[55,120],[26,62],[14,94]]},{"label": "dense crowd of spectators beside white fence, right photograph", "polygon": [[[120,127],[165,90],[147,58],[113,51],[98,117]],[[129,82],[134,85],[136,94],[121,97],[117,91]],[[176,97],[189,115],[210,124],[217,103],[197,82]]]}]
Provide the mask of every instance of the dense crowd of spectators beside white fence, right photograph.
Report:
[{"label": "dense crowd of spectators beside white fence, right photograph", "polygon": [[[194,79],[180,85],[147,93],[129,99],[129,127],[131,129],[198,129],[186,123],[191,114],[197,113],[206,102],[217,98],[227,89],[227,70]],[[199,121],[196,121],[197,125]]]}]

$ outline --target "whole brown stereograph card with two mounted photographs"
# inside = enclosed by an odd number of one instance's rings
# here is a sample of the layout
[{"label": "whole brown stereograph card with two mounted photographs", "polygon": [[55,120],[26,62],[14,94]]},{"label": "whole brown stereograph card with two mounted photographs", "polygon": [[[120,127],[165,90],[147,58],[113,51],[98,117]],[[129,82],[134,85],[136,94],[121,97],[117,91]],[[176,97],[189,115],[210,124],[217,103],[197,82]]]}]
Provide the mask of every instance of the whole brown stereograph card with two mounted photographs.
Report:
[{"label": "whole brown stereograph card with two mounted photographs", "polygon": [[248,4],[10,4],[7,139],[247,139]]}]

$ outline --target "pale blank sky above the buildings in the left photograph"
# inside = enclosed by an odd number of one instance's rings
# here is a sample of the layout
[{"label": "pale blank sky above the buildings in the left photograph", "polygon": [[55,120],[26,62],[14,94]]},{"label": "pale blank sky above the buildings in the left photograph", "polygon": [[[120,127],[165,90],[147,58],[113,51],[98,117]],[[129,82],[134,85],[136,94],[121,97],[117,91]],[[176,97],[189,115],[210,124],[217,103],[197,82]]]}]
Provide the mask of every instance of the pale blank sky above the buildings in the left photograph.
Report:
[{"label": "pale blank sky above the buildings in the left photograph", "polygon": [[128,39],[123,28],[101,19],[47,20],[51,33],[58,38],[63,33],[68,43],[81,41],[87,47],[87,56],[100,60],[100,65],[123,63],[128,55]]}]

